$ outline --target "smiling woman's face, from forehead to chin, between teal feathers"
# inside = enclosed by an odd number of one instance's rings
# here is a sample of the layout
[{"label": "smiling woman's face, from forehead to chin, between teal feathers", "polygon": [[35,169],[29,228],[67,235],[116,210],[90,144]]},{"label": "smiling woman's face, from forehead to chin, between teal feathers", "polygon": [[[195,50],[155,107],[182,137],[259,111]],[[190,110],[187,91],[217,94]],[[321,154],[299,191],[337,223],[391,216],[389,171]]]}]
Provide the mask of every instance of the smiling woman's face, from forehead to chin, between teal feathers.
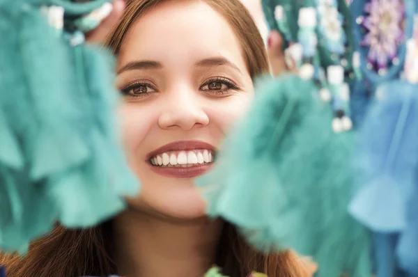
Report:
[{"label": "smiling woman's face, from forehead to chin, between teal feathers", "polygon": [[204,1],[164,1],[131,26],[117,71],[125,149],[142,182],[130,206],[176,219],[203,216],[193,178],[213,166],[254,97],[233,30]]}]

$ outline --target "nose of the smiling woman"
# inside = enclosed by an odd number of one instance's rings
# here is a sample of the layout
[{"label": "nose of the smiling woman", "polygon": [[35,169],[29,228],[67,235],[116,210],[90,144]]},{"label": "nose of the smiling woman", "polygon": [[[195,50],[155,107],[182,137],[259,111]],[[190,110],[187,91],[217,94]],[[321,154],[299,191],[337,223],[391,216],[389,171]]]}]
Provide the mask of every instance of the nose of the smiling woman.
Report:
[{"label": "nose of the smiling woman", "polygon": [[209,117],[203,109],[203,99],[189,88],[178,88],[162,99],[162,113],[158,125],[162,129],[180,127],[189,131],[208,125]]}]

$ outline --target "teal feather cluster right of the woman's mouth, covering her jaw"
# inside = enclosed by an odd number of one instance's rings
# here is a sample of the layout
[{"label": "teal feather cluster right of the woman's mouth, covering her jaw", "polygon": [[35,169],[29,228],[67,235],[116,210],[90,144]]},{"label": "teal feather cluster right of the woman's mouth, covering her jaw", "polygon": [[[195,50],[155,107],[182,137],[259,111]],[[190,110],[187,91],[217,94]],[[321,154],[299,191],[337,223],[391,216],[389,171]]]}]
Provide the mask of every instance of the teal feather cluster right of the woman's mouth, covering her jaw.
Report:
[{"label": "teal feather cluster right of the woman's mouth, covering her jaw", "polygon": [[257,248],[293,248],[318,276],[370,276],[369,233],[350,217],[355,134],[335,134],[311,81],[263,81],[217,166],[197,180],[208,214],[238,225]]}]

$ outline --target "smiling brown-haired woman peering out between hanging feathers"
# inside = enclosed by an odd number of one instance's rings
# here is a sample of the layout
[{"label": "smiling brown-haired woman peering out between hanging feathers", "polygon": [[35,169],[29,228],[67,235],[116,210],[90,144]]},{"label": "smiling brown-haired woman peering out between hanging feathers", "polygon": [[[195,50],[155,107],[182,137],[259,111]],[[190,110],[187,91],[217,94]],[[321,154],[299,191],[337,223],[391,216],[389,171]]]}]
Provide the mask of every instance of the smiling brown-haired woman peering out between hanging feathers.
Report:
[{"label": "smiling brown-haired woman peering out between hanging feathers", "polygon": [[56,228],[26,258],[4,259],[10,277],[197,277],[212,264],[231,277],[311,276],[292,253],[263,255],[233,225],[209,220],[194,186],[253,100],[253,79],[268,72],[242,3],[131,0],[106,44],[117,56],[118,115],[141,194],[107,223]]}]

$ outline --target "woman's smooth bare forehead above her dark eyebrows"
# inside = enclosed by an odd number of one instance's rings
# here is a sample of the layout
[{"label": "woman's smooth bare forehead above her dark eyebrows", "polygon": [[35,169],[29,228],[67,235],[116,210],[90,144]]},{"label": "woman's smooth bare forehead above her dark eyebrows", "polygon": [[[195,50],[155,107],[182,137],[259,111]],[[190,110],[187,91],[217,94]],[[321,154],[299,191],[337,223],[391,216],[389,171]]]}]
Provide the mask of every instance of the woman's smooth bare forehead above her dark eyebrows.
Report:
[{"label": "woman's smooth bare forehead above her dark eyebrows", "polygon": [[130,27],[121,45],[118,65],[132,60],[194,63],[224,56],[245,67],[240,43],[222,15],[200,0],[162,1]]}]

